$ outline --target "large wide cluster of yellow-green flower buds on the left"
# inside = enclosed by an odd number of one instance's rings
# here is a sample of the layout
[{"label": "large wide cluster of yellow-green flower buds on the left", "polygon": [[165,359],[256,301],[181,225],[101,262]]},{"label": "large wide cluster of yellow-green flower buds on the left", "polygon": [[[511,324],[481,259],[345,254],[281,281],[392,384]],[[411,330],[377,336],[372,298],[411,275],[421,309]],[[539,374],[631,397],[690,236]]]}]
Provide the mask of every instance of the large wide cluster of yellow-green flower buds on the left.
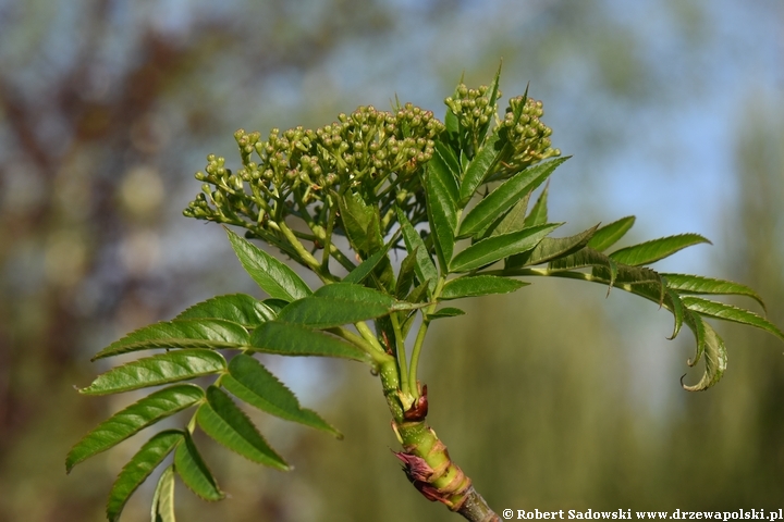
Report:
[{"label": "large wide cluster of yellow-green flower buds on the left", "polygon": [[205,172],[196,174],[205,182],[204,194],[185,215],[234,224],[246,217],[264,226],[270,215],[303,212],[293,208],[347,190],[383,209],[393,202],[419,204],[416,195],[422,190],[416,174],[432,157],[433,140],[443,130],[432,112],[411,103],[394,112],[359,107],[338,120],[316,130],[273,128],[267,140],[257,132],[237,130],[243,166],[232,174],[223,158],[209,156]]}]

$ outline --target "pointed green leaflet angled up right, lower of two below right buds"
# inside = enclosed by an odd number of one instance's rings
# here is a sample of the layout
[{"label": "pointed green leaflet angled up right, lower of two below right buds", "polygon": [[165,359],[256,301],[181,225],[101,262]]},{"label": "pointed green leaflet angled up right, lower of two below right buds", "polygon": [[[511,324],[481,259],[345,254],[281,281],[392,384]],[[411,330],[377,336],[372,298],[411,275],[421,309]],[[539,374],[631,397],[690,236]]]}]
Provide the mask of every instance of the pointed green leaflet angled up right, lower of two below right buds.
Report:
[{"label": "pointed green leaflet angled up right, lower of two below right buds", "polygon": [[536,247],[544,236],[562,224],[563,223],[549,223],[510,234],[490,236],[487,239],[475,243],[455,256],[450,264],[450,271],[468,272],[494,263],[509,256],[530,250]]}]

